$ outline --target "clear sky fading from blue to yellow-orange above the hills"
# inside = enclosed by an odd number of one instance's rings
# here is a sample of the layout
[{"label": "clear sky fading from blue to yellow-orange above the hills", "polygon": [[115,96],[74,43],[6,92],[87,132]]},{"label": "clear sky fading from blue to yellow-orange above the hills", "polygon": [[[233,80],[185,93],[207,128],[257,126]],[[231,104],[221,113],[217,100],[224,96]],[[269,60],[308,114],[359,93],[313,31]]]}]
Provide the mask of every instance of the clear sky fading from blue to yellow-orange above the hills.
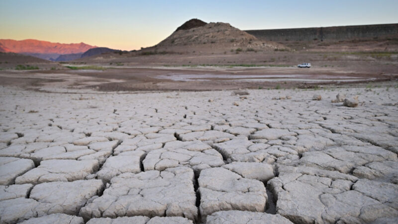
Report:
[{"label": "clear sky fading from blue to yellow-orange above the hills", "polygon": [[398,23],[398,0],[0,0],[0,39],[153,46],[191,18],[239,29]]}]

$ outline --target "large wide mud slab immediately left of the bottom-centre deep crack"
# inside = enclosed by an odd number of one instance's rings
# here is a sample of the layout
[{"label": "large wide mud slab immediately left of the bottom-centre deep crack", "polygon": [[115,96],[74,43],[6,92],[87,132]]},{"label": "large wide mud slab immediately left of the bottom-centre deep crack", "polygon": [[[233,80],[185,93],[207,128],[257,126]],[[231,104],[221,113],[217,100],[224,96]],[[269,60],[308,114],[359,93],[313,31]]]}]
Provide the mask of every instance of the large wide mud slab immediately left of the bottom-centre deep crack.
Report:
[{"label": "large wide mud slab immediately left of the bottom-centre deep crack", "polygon": [[196,220],[194,172],[187,167],[138,174],[123,173],[110,181],[102,196],[80,211],[85,219],[122,216],[183,216]]}]

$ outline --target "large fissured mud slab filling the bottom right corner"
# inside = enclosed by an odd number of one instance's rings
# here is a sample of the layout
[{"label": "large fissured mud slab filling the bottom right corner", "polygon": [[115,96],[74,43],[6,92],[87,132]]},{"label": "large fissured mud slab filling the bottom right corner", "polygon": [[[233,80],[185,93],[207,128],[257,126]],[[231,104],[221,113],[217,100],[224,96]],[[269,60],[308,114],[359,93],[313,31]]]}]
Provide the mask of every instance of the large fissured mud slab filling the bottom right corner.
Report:
[{"label": "large fissured mud slab filling the bottom right corner", "polygon": [[321,175],[297,171],[268,183],[278,199],[277,213],[294,223],[370,223],[398,216],[395,184],[356,180],[336,171],[322,170]]}]

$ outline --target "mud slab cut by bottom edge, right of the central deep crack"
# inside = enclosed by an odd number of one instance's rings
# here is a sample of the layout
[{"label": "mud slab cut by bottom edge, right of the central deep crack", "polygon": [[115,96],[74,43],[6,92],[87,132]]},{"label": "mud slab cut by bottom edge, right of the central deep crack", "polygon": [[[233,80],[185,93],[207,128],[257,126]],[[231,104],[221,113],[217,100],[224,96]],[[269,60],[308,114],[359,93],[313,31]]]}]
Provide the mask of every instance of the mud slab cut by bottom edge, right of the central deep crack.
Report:
[{"label": "mud slab cut by bottom edge, right of the central deep crack", "polygon": [[206,224],[293,224],[281,215],[246,211],[220,211],[207,216]]}]

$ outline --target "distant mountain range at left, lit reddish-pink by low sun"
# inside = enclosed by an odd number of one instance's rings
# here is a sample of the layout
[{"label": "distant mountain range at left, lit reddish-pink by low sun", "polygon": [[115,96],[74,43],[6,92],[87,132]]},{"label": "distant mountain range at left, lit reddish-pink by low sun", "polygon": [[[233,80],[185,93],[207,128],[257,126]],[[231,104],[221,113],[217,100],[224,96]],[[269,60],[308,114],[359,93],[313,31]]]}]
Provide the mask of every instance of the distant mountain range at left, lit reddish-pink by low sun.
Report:
[{"label": "distant mountain range at left, lit reddish-pink by low sun", "polygon": [[0,39],[0,52],[14,52],[50,61],[71,61],[112,51],[116,50],[92,46],[83,42],[64,44],[33,39]]}]

